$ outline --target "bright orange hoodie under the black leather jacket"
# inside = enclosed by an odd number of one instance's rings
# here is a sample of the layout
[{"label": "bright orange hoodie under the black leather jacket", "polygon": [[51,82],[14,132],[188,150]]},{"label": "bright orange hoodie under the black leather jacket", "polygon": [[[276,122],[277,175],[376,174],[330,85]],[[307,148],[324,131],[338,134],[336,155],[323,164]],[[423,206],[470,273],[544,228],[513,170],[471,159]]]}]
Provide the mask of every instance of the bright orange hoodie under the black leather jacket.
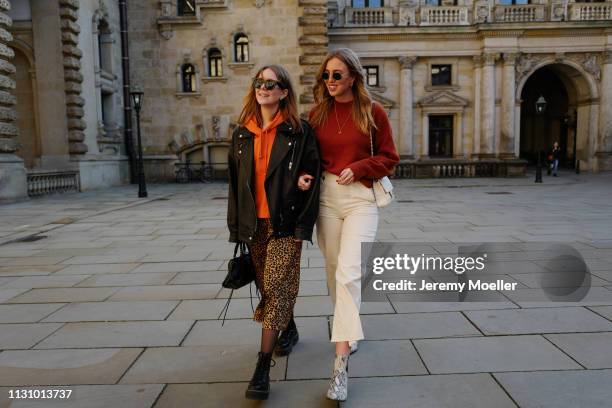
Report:
[{"label": "bright orange hoodie under the black leather jacket", "polygon": [[284,120],[285,118],[283,115],[278,112],[265,129],[259,127],[255,118],[251,118],[246,124],[246,128],[255,135],[253,141],[253,158],[255,163],[255,208],[257,210],[257,218],[270,218],[264,181],[266,180],[266,173],[268,172],[272,145],[276,137],[276,128],[283,123]]}]

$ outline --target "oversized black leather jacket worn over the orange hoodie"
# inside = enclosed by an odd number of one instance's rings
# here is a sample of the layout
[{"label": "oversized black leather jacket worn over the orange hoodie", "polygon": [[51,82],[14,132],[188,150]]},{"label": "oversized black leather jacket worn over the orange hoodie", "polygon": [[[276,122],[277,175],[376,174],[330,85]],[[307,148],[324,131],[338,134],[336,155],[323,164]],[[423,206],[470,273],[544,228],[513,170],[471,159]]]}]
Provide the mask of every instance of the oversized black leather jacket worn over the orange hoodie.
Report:
[{"label": "oversized black leather jacket worn over the orange hoodie", "polygon": [[[228,154],[230,242],[248,244],[257,229],[253,138],[253,133],[243,126],[232,135]],[[297,187],[302,172],[315,177],[308,191]],[[300,133],[287,122],[280,124],[264,182],[274,236],[295,236],[312,242],[312,229],[319,213],[320,177],[319,151],[310,125],[302,121]]]}]

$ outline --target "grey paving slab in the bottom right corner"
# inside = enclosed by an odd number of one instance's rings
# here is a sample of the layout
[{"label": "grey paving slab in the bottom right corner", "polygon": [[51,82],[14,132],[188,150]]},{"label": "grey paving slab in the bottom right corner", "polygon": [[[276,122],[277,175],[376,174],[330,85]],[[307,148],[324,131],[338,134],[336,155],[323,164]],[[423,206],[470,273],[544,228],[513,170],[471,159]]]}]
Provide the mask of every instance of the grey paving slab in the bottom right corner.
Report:
[{"label": "grey paving slab in the bottom right corner", "polygon": [[612,370],[497,373],[499,383],[521,407],[608,407]]}]

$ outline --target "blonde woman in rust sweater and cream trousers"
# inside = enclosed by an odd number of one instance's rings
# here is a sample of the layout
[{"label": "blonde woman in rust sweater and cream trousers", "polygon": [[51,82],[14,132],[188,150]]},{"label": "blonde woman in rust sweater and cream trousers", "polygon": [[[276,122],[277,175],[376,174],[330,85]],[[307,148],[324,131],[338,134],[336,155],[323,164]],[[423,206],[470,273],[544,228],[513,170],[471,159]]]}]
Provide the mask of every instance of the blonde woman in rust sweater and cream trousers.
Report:
[{"label": "blonde woman in rust sweater and cream trousers", "polygon": [[[334,302],[331,341],[336,347],[327,397],[344,401],[349,352],[364,338],[359,318],[361,243],[374,241],[378,228],[372,180],[390,175],[399,156],[389,119],[382,106],[372,103],[363,68],[353,51],[338,49],[325,58],[314,93],[316,105],[310,112],[310,124],[324,170],[317,240]],[[298,187],[309,189],[310,179],[310,175],[302,175]]]}]

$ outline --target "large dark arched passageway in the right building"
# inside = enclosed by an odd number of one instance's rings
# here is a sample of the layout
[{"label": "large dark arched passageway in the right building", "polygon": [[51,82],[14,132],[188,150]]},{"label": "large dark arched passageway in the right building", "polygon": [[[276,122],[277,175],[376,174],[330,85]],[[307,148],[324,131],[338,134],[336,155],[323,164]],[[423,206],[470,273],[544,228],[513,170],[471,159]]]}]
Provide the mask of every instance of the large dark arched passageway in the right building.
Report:
[{"label": "large dark arched passageway in the right building", "polygon": [[[598,109],[585,74],[568,64],[543,63],[520,86],[520,157],[534,164],[539,152],[546,159],[557,142],[560,166],[573,168],[576,159],[587,164],[590,140],[597,134],[591,122],[597,122],[593,114]],[[538,100],[545,101],[543,110],[537,108]]]}]

